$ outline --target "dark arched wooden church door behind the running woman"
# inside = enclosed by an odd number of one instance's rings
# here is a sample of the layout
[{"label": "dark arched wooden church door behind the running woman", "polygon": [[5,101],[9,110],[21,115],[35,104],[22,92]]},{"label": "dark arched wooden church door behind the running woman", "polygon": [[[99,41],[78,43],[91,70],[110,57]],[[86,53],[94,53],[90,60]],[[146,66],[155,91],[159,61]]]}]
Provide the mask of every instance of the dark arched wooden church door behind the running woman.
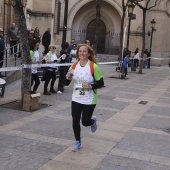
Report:
[{"label": "dark arched wooden church door behind the running woman", "polygon": [[[92,20],[88,26],[86,31],[86,39],[90,40],[91,44],[95,42],[95,31],[96,31],[96,19]],[[106,25],[100,19],[99,20],[99,28],[98,28],[98,45],[97,45],[97,53],[105,53],[105,40],[106,40]]]}]

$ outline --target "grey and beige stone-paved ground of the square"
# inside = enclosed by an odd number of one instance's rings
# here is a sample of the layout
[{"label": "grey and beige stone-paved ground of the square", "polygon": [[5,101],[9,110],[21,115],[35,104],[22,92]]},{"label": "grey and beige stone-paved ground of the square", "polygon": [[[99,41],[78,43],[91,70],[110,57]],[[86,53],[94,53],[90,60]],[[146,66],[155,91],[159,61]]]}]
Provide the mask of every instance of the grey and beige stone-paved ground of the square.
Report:
[{"label": "grey and beige stone-paved ground of the square", "polygon": [[[78,152],[71,151],[72,85],[44,96],[41,83],[39,102],[49,107],[35,112],[0,106],[0,170],[170,170],[170,68],[129,69],[121,80],[109,78],[119,76],[115,66],[100,67],[98,130],[82,126]],[[20,80],[7,85],[0,105],[19,100],[20,89]]]}]

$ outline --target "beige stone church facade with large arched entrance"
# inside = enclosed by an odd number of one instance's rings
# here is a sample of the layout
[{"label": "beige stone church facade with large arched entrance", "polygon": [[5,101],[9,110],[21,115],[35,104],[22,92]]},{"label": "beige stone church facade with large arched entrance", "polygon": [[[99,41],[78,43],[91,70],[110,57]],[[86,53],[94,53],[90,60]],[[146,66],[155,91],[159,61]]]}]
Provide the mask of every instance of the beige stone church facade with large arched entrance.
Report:
[{"label": "beige stone church facade with large arched entrance", "polygon": [[[35,28],[38,26],[41,35],[48,28],[51,28],[52,42],[57,45],[59,51],[62,43],[65,0],[22,0],[22,3],[27,27]],[[12,22],[17,22],[11,4],[12,0],[2,0],[0,4],[0,25],[3,25],[4,30],[7,30]],[[145,5],[145,0],[141,4]],[[136,19],[131,21],[129,41],[131,51],[142,48],[142,11],[136,6],[134,13]],[[100,14],[98,53],[119,54],[121,1],[102,0]],[[161,62],[167,63],[168,61],[163,59],[170,57],[170,0],[159,0],[157,6],[147,12],[146,32],[151,31],[150,21],[152,19],[156,21],[152,56],[162,58]],[[92,43],[95,43],[95,21],[95,0],[69,0],[66,40],[70,42],[71,38],[74,38],[77,43],[83,43],[85,39],[90,39]],[[150,48],[150,39],[151,37],[146,35],[146,48],[148,49]]]}]

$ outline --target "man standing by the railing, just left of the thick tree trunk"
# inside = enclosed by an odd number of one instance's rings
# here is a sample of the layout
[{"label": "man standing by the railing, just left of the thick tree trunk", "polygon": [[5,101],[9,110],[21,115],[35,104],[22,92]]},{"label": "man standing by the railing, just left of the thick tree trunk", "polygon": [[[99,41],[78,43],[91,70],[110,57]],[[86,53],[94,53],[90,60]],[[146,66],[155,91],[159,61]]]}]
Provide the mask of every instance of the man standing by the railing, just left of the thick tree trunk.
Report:
[{"label": "man standing by the railing, just left of the thick tree trunk", "polygon": [[11,55],[14,54],[17,57],[17,43],[18,43],[18,29],[15,26],[15,23],[12,23],[11,28],[8,30],[8,37],[10,41],[10,50]]}]

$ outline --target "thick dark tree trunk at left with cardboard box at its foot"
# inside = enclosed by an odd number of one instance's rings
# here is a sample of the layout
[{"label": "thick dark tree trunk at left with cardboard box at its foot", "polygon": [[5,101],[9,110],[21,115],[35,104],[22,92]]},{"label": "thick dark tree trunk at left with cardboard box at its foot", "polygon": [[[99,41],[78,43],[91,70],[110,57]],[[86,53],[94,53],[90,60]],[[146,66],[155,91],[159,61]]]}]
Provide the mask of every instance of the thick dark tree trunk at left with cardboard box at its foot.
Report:
[{"label": "thick dark tree trunk at left with cardboard box at its foot", "polygon": [[[19,28],[19,42],[20,42],[22,64],[31,64],[31,58],[29,55],[29,47],[28,47],[28,34],[27,34],[27,27],[26,27],[26,19],[25,19],[21,0],[14,0],[13,7],[15,10],[17,25]],[[30,90],[31,90],[31,69],[25,68],[22,70],[21,105],[23,105],[24,93]]]}]

